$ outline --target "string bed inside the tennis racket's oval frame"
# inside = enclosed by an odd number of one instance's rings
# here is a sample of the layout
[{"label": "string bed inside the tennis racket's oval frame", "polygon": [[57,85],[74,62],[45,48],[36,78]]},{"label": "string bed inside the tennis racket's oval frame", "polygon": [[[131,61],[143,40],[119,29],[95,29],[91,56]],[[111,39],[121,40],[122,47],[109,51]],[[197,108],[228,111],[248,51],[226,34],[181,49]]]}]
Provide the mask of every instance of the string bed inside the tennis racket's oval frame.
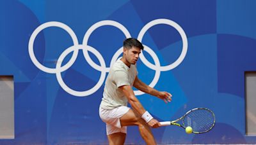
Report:
[{"label": "string bed inside the tennis racket's oval frame", "polygon": [[214,125],[214,114],[206,109],[189,112],[183,119],[185,127],[192,127],[194,132],[207,132]]}]

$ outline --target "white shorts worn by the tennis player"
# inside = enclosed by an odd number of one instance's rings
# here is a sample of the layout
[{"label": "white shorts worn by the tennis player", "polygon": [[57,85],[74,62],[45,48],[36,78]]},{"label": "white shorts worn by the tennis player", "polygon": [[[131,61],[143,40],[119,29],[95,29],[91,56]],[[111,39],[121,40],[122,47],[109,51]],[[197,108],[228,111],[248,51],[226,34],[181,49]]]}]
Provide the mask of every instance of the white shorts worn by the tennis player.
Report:
[{"label": "white shorts worn by the tennis player", "polygon": [[116,107],[112,110],[99,108],[99,114],[102,121],[106,123],[107,135],[114,134],[116,132],[127,132],[127,127],[121,127],[120,118],[131,109],[127,106]]}]

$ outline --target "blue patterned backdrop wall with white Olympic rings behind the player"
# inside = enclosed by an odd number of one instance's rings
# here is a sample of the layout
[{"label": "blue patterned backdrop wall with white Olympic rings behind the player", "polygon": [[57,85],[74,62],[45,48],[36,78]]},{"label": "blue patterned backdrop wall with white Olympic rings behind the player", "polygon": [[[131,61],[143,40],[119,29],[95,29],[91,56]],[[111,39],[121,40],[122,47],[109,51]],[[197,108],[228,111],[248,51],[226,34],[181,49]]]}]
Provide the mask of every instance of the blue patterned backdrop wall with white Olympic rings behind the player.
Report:
[{"label": "blue patterned backdrop wall with white Olympic rings behind the player", "polygon": [[[138,76],[173,101],[136,91],[138,99],[160,121],[207,107],[216,125],[199,135],[156,128],[157,143],[256,143],[245,135],[244,109],[244,71],[256,71],[255,7],[253,0],[0,1],[0,75],[13,75],[15,87],[15,139],[0,144],[106,143],[98,108],[108,67],[126,37],[138,38],[159,18],[170,25],[141,37],[152,65],[141,58]],[[128,128],[126,142],[143,143],[137,127]]]}]

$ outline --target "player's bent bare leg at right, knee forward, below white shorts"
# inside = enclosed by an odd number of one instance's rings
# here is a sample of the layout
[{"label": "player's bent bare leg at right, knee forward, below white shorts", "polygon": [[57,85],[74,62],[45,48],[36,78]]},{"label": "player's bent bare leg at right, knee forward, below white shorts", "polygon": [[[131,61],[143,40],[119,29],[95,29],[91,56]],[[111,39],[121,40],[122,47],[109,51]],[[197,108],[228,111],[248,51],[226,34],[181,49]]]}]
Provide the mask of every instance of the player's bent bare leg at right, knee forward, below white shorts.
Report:
[{"label": "player's bent bare leg at right, knee forward, below white shorts", "polygon": [[148,124],[145,122],[145,120],[138,116],[138,114],[135,113],[132,109],[129,109],[129,111],[120,118],[120,122],[122,127],[138,125],[143,140],[147,144],[156,144],[156,141]]}]

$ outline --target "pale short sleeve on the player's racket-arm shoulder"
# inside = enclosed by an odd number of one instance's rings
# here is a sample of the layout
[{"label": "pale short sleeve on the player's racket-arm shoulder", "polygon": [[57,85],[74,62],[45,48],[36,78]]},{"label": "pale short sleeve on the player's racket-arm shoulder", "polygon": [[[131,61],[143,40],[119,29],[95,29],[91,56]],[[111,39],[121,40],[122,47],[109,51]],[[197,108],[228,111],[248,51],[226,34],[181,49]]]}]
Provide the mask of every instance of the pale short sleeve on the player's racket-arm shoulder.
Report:
[{"label": "pale short sleeve on the player's racket-arm shoulder", "polygon": [[113,75],[113,81],[115,82],[117,87],[124,86],[124,85],[131,85],[129,83],[128,75],[124,71],[115,71]]}]

